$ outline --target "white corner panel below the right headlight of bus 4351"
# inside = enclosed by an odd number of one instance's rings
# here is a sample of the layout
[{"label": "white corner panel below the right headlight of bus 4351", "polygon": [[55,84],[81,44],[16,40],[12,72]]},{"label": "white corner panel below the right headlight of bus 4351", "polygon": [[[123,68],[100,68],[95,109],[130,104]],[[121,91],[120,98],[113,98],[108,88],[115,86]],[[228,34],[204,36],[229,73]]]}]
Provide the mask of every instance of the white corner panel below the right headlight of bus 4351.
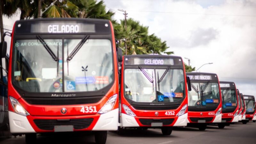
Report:
[{"label": "white corner panel below the right headlight of bus 4351", "polygon": [[101,114],[92,131],[116,131],[118,125],[118,108]]}]

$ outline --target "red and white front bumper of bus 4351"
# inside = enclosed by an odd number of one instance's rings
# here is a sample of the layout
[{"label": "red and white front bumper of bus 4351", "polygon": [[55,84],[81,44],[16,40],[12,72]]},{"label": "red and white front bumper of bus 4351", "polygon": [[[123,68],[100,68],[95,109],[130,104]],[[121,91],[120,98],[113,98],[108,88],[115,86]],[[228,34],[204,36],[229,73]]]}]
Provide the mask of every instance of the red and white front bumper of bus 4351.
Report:
[{"label": "red and white front bumper of bus 4351", "polygon": [[[92,122],[87,128],[73,129],[73,131],[115,131],[117,130],[118,124],[118,108],[111,110],[105,114],[95,115],[83,115],[83,116],[21,116],[14,112],[9,111],[9,122],[11,133],[43,133],[43,132],[54,132],[52,130],[40,129],[35,119],[40,120],[63,120],[63,119],[86,119],[93,118]],[[72,124],[65,124],[72,125]],[[46,125],[47,127],[48,125]],[[65,132],[65,131],[63,131]]]}]

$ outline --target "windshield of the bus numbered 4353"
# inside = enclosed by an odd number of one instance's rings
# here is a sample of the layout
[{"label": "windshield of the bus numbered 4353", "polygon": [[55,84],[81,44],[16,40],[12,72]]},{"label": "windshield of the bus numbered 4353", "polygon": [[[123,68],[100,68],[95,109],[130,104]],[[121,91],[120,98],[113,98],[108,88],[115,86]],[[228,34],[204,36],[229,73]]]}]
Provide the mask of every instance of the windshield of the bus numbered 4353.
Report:
[{"label": "windshield of the bus numbered 4353", "polygon": [[214,106],[220,102],[218,83],[191,83],[188,91],[188,106]]}]

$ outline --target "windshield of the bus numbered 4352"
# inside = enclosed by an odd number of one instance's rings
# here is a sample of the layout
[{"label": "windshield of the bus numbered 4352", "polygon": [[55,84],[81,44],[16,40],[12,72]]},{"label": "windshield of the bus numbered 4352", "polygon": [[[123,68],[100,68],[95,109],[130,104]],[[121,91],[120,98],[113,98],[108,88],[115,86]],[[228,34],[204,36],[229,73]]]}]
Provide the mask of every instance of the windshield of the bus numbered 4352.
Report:
[{"label": "windshield of the bus numbered 4352", "polygon": [[[124,70],[124,91],[127,99],[136,102],[176,102],[185,96],[184,75],[181,69],[144,69],[150,81],[140,69]],[[158,83],[159,82],[159,83]]]}]

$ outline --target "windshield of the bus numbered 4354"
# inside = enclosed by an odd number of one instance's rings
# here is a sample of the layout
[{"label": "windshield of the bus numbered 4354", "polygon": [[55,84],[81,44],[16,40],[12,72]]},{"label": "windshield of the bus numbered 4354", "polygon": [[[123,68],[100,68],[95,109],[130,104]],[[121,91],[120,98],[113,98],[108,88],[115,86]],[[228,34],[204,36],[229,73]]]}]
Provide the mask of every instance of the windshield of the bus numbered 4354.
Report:
[{"label": "windshield of the bus numbered 4354", "polygon": [[236,91],[235,90],[221,90],[222,108],[231,109],[237,106]]}]

